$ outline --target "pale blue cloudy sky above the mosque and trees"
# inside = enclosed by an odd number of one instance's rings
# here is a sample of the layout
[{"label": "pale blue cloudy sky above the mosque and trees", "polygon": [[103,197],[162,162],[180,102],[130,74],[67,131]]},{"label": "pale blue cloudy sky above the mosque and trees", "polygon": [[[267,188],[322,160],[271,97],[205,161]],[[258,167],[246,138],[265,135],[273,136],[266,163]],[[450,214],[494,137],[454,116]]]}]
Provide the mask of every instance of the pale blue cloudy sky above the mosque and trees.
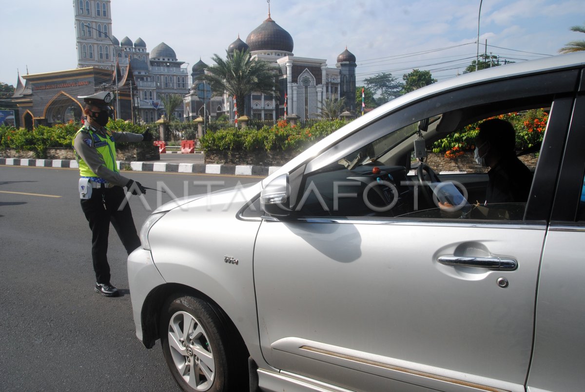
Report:
[{"label": "pale blue cloudy sky above the mosque and trees", "polygon": [[[3,1],[0,81],[15,85],[30,74],[77,66],[72,0]],[[152,50],[164,42],[181,61],[211,64],[238,34],[242,40],[267,17],[266,0],[112,1],[112,34],[141,37]],[[271,0],[272,19],[294,40],[298,57],[323,58],[335,67],[339,53],[357,58],[357,84],[379,72],[401,78],[413,68],[441,80],[462,73],[477,53],[480,0]],[[480,53],[524,61],[558,54],[585,39],[570,26],[585,24],[583,0],[483,0]],[[428,52],[428,53],[425,53]],[[529,53],[525,53],[529,52]]]}]

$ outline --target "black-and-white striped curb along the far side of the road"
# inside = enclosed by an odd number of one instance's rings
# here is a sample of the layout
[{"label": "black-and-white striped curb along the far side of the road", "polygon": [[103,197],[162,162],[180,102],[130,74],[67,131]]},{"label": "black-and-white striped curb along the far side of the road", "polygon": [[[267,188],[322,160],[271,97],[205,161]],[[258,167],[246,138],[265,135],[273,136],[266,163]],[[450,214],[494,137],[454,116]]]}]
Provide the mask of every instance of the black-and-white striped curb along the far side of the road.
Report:
[{"label": "black-and-white striped curb along the far side of the road", "polygon": [[[26,159],[0,158],[0,165],[39,166],[52,168],[79,168],[77,161],[70,159]],[[116,161],[120,170],[137,172],[175,172],[232,174],[241,176],[268,176],[280,166],[216,165],[216,164],[171,164],[168,162],[125,162]]]}]

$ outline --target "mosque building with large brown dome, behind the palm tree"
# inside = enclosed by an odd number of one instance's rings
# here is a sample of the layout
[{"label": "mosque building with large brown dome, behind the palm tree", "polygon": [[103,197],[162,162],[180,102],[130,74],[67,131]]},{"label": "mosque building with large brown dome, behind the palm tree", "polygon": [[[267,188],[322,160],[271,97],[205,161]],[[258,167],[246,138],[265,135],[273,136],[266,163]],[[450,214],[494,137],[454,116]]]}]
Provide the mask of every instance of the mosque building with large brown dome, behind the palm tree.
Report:
[{"label": "mosque building with large brown dome, behind the palm tree", "polygon": [[[328,67],[321,58],[298,57],[292,53],[294,41],[291,34],[279,26],[270,16],[250,32],[246,41],[240,37],[228,46],[228,54],[234,50],[249,50],[252,58],[264,60],[273,65],[280,89],[278,96],[253,93],[246,97],[243,114],[258,120],[276,120],[287,115],[300,119],[319,116],[321,103],[325,99],[346,98],[346,109],[356,110],[356,57],[347,47],[338,55],[335,67]],[[199,77],[207,67],[203,61],[192,67],[191,91],[185,96],[185,113],[190,119],[203,115],[204,102],[198,98]],[[285,109],[286,99],[286,109]],[[212,118],[221,115],[234,119],[233,97],[224,95],[205,102],[205,112]]]}]

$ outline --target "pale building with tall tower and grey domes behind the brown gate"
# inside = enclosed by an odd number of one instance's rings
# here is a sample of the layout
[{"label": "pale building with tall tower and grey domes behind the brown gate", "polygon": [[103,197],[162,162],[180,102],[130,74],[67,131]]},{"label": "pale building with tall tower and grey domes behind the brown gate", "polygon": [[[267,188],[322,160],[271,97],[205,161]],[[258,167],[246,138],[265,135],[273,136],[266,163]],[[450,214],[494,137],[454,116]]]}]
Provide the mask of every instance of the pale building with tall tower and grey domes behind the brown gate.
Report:
[{"label": "pale building with tall tower and grey domes behind the brown gate", "polygon": [[167,113],[162,102],[171,94],[184,96],[189,92],[187,68],[184,61],[178,61],[173,48],[163,42],[149,53],[140,37],[118,41],[112,34],[110,0],[74,0],[73,6],[77,67],[110,70],[115,76],[113,85],[104,88],[132,97],[130,110],[120,110],[119,117],[135,122],[154,122],[162,115],[184,119],[183,105]]}]

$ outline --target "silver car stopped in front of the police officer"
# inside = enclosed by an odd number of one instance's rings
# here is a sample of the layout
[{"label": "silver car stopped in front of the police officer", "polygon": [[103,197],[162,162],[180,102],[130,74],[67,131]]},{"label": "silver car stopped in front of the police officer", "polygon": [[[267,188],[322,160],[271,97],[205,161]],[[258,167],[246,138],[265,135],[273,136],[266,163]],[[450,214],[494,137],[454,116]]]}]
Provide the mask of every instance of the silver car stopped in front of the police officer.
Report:
[{"label": "silver car stopped in front of the police officer", "polygon": [[[527,202],[425,160],[528,109],[549,116]],[[136,335],[185,391],[582,391],[584,150],[585,53],[401,96],[255,185],[154,211]]]}]

